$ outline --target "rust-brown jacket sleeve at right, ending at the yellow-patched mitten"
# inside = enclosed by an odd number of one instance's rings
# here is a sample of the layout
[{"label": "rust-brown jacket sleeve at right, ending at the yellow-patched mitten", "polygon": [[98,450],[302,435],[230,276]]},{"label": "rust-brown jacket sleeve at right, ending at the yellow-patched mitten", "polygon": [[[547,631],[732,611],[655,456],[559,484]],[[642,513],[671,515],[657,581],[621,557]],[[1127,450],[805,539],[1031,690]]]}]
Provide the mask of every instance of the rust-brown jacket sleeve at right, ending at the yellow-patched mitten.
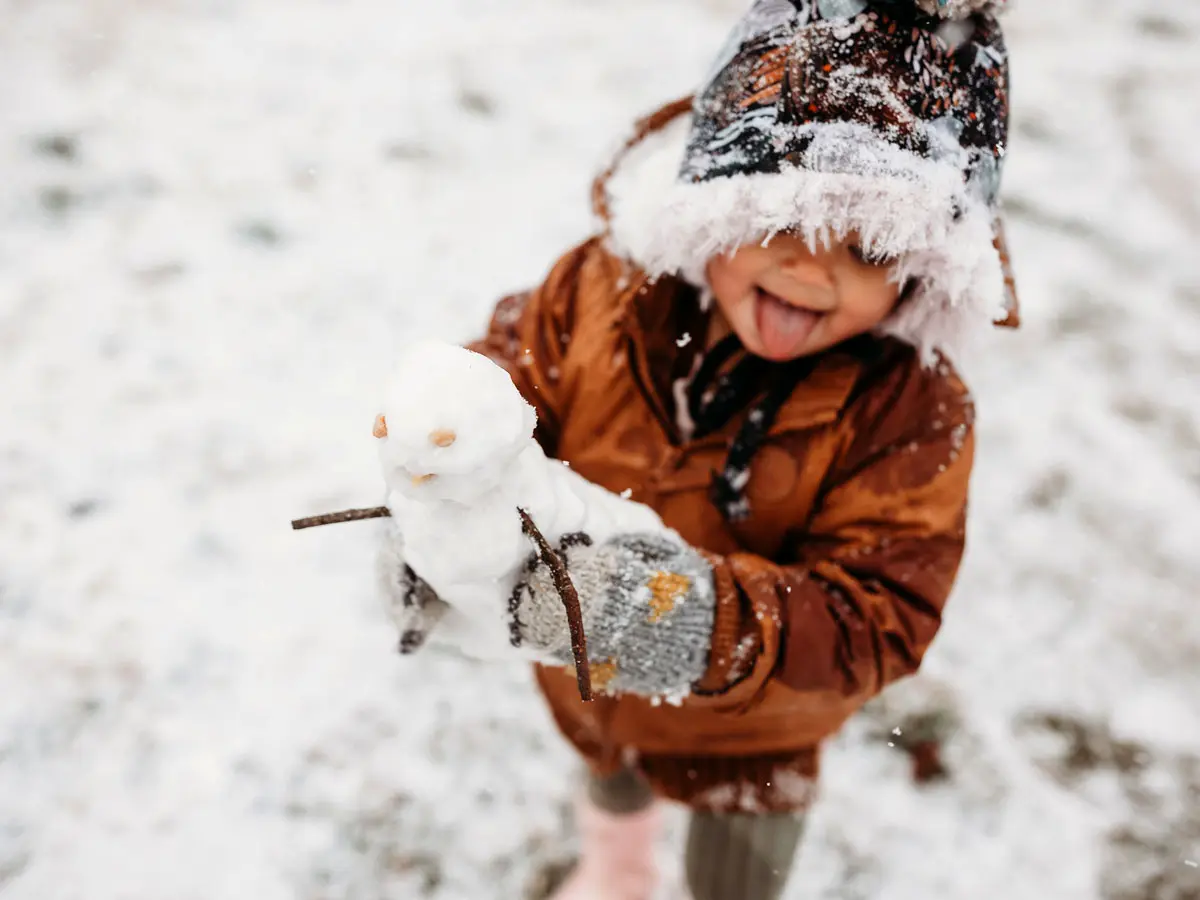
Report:
[{"label": "rust-brown jacket sleeve at right, ending at the yellow-patched mitten", "polygon": [[817,510],[780,563],[709,557],[718,595],[698,692],[752,707],[767,684],[865,702],[920,665],[964,551],[973,407],[948,366],[852,408]]}]

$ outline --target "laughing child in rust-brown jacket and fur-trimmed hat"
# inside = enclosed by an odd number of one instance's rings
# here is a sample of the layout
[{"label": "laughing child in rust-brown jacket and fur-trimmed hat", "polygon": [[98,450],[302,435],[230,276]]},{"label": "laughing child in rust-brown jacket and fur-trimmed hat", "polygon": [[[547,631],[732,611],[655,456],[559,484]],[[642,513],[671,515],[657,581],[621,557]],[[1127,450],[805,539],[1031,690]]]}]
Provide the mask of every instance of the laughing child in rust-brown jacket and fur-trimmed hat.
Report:
[{"label": "laughing child in rust-brown jacket and fur-trimmed hat", "polygon": [[[934,640],[972,460],[943,354],[1015,320],[1000,2],[760,0],[598,182],[605,233],[474,347],[682,539],[565,541],[594,703],[542,566],[497,611],[592,769],[560,900],[650,896],[655,798],[694,810],[696,900],[780,896],[821,742]],[[412,652],[438,600],[380,560]]]}]

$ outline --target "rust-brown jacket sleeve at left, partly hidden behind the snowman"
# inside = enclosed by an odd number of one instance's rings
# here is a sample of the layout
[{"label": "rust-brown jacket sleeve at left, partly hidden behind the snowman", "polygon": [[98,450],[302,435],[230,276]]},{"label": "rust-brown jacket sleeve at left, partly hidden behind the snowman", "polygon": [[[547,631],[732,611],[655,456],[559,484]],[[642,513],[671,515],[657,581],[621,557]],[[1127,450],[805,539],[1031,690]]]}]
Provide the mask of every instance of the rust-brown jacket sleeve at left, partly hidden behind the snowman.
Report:
[{"label": "rust-brown jacket sleeve at left, partly hidden behind the snowman", "polygon": [[512,294],[496,306],[487,334],[467,344],[503,366],[521,396],[538,413],[534,437],[548,456],[557,455],[564,412],[560,373],[571,341],[584,269],[602,256],[593,238],[559,259],[542,284]]}]

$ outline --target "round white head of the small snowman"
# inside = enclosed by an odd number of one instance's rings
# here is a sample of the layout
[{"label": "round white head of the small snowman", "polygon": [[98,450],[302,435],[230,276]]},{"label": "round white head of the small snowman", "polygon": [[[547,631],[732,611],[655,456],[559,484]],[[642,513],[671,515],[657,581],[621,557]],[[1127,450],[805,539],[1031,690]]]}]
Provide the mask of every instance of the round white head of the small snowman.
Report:
[{"label": "round white head of the small snowman", "polygon": [[390,491],[468,504],[512,475],[538,416],[509,373],[438,341],[401,354],[376,419]]}]

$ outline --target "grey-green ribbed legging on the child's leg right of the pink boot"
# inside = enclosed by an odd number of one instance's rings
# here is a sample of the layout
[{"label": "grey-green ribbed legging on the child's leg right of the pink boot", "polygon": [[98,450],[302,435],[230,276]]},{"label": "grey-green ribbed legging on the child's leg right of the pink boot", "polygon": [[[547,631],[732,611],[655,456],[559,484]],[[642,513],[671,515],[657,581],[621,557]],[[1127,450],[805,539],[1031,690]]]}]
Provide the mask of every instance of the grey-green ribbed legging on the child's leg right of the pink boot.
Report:
[{"label": "grey-green ribbed legging on the child's leg right of the pink boot", "polygon": [[695,900],[779,900],[804,832],[800,815],[695,812],[688,887]]}]

